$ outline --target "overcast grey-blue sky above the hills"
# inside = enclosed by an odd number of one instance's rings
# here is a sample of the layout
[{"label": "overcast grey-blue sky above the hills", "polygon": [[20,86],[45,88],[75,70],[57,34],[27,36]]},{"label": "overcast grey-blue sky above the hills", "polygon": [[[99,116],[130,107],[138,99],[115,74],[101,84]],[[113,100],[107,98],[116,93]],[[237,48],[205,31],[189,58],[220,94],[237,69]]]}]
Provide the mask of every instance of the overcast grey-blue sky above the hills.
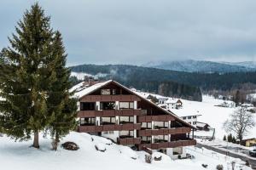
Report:
[{"label": "overcast grey-blue sky above the hills", "polygon": [[[0,0],[0,48],[34,1]],[[43,0],[68,65],[256,60],[255,0]]]}]

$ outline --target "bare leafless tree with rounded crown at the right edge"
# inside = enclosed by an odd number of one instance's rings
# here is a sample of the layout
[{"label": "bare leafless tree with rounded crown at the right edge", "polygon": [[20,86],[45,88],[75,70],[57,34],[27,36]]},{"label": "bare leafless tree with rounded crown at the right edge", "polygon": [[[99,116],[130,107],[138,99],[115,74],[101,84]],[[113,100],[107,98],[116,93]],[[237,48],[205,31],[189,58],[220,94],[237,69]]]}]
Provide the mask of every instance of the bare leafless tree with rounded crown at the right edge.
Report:
[{"label": "bare leafless tree with rounded crown at the right edge", "polygon": [[236,138],[239,139],[240,144],[243,137],[247,135],[248,130],[254,126],[253,114],[242,107],[230,114],[230,118],[224,122],[226,132],[236,133]]}]

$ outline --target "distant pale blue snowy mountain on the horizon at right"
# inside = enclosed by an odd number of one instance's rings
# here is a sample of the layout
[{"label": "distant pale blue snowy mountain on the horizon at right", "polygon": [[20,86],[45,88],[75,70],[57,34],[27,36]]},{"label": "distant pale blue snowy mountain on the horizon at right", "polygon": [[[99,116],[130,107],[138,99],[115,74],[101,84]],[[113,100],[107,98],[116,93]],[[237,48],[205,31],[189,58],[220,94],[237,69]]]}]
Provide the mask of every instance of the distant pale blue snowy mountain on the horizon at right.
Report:
[{"label": "distant pale blue snowy mountain on the horizon at right", "polygon": [[171,70],[171,71],[207,72],[207,73],[256,71],[256,64],[255,63],[253,64],[252,62],[224,63],[224,62],[212,62],[212,61],[193,60],[193,59],[160,61],[160,62],[151,61],[143,66]]}]

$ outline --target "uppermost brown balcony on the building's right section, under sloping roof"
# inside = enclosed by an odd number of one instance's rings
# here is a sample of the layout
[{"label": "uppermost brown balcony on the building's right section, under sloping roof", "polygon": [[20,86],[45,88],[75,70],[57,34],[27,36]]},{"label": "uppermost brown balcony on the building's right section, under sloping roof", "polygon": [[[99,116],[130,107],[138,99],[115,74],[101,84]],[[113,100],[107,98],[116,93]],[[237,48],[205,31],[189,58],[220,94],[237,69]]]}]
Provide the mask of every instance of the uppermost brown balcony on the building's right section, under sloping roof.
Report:
[{"label": "uppermost brown balcony on the building's right section, under sloping roof", "polygon": [[159,115],[159,116],[138,116],[138,122],[166,122],[174,121],[175,118],[171,115]]}]

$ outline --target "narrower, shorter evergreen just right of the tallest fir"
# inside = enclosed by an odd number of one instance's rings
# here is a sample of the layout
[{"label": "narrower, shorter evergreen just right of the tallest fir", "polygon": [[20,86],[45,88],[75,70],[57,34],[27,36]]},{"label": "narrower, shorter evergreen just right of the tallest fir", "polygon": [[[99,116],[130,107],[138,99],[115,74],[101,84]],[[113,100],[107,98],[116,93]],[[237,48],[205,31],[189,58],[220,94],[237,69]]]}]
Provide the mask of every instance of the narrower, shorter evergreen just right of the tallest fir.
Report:
[{"label": "narrower, shorter evergreen just right of the tallest fir", "polygon": [[47,104],[50,115],[55,116],[53,122],[49,124],[49,130],[54,138],[53,150],[57,150],[61,137],[69,133],[76,125],[77,99],[71,99],[72,94],[68,91],[72,82],[69,81],[70,71],[65,67],[67,55],[59,31],[55,33],[53,45],[55,50],[52,55],[53,59],[50,59],[53,62]]}]

